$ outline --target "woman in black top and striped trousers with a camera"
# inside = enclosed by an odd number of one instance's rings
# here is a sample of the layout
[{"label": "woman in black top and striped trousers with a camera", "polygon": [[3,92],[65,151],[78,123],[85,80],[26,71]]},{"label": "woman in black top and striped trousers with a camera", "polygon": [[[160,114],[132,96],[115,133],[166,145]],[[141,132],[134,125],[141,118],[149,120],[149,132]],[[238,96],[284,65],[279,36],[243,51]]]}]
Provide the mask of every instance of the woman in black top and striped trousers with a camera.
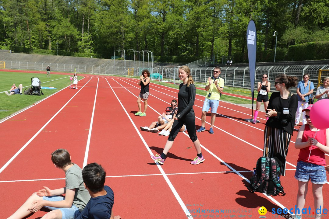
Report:
[{"label": "woman in black top and striped trousers with a camera", "polygon": [[[297,85],[297,77],[278,75],[275,78],[274,92],[268,103],[265,117],[269,117],[264,130],[264,152],[263,156],[277,157],[280,154],[286,158],[289,142],[295,122],[298,99],[289,91],[289,88]],[[286,162],[280,169],[280,175],[286,172]]]}]

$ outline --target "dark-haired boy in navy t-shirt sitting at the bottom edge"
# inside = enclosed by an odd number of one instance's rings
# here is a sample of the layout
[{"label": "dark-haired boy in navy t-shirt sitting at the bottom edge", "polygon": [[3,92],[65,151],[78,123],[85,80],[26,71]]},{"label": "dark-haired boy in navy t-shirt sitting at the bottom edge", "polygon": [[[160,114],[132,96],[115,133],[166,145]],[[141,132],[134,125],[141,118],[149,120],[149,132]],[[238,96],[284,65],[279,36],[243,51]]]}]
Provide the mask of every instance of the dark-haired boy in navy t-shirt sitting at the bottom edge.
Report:
[{"label": "dark-haired boy in navy t-shirt sitting at the bottom edge", "polygon": [[[113,219],[111,215],[114,193],[109,186],[104,186],[105,177],[105,170],[97,163],[87,164],[83,168],[82,178],[91,198],[77,219]],[[120,218],[120,216],[114,216],[114,219]]]}]

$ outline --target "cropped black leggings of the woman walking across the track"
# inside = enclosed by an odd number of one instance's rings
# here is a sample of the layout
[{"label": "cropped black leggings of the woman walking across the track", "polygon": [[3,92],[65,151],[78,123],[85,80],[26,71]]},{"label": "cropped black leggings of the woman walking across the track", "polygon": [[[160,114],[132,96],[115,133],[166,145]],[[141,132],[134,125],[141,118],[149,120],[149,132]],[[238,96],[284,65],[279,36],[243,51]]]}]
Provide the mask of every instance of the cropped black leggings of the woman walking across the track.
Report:
[{"label": "cropped black leggings of the woman walking across the track", "polygon": [[171,132],[168,137],[168,141],[170,142],[174,141],[179,130],[183,127],[184,124],[186,126],[186,130],[189,133],[192,142],[195,142],[198,139],[195,132],[195,117],[184,117],[180,120],[174,120],[174,123],[172,124],[172,128],[171,128]]}]

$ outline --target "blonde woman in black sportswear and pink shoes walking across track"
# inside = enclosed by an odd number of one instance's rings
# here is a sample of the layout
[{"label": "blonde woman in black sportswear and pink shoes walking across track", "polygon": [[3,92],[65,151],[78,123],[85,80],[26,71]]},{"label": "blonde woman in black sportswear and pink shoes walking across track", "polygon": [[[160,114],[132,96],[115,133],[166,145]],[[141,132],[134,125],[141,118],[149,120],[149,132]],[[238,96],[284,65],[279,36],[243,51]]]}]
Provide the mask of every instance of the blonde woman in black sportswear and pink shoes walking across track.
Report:
[{"label": "blonde woman in black sportswear and pink shoes walking across track", "polygon": [[151,155],[151,158],[160,163],[164,164],[167,153],[172,147],[174,143],[174,139],[176,138],[179,130],[185,124],[187,132],[189,133],[190,139],[192,140],[197,156],[191,162],[191,164],[200,164],[205,161],[201,153],[201,146],[198,137],[196,136],[195,131],[195,115],[193,110],[194,100],[195,100],[195,85],[192,79],[192,75],[190,73],[190,68],[188,66],[181,66],[178,69],[179,78],[183,81],[179,85],[178,92],[178,111],[176,117],[174,118],[174,123],[172,125],[171,132],[169,134],[168,140],[164,145],[164,150],[162,154],[159,155]]}]

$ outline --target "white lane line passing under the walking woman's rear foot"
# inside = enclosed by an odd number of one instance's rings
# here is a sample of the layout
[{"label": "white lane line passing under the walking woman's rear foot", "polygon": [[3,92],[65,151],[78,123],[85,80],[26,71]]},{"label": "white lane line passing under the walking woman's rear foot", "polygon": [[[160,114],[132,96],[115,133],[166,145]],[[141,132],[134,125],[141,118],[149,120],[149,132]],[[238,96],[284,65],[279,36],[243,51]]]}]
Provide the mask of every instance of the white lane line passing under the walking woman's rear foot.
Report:
[{"label": "white lane line passing under the walking woman's rear foot", "polygon": [[[106,78],[105,78],[105,79],[106,79]],[[113,80],[114,80],[114,79],[113,79]],[[106,79],[106,81],[107,81],[108,84],[110,85],[110,83],[109,83],[109,81],[108,81],[107,79]],[[114,80],[114,81],[115,81],[116,83],[118,83],[116,80]],[[120,83],[118,83],[118,84],[120,84]],[[110,85],[110,87],[111,87],[111,85]],[[137,127],[136,127],[134,121],[133,121],[133,120],[131,119],[131,117],[129,116],[127,110],[124,108],[124,106],[123,106],[123,104],[121,103],[121,101],[119,100],[118,96],[116,96],[116,94],[115,94],[115,92],[114,92],[114,90],[113,90],[112,87],[111,87],[111,89],[112,89],[112,91],[113,91],[113,93],[114,93],[116,99],[119,101],[119,103],[120,103],[122,109],[125,111],[125,113],[126,113],[127,117],[129,118],[130,122],[133,124],[133,126],[134,126],[134,128],[135,128],[137,134],[138,134],[139,137],[140,137],[140,139],[141,139],[142,142],[144,143],[144,146],[145,146],[146,150],[149,152],[150,155],[153,155],[151,149],[149,148],[149,146],[148,146],[147,143],[145,142],[144,138],[141,136],[141,134],[140,134],[139,130],[137,129]],[[128,89],[126,89],[126,90],[128,91]],[[129,91],[129,92],[130,92],[130,91]],[[162,167],[160,166],[160,164],[158,164],[158,163],[157,163],[157,167],[159,168],[159,170],[160,170],[162,176],[164,177],[164,180],[166,181],[166,183],[167,183],[168,186],[170,187],[172,193],[174,194],[175,198],[177,199],[179,205],[180,205],[181,208],[183,209],[185,215],[187,215],[187,216],[190,217],[191,215],[190,215],[190,213],[187,213],[187,207],[186,207],[186,205],[184,204],[184,202],[183,202],[183,200],[181,199],[181,197],[178,195],[176,189],[174,188],[174,186],[173,186],[172,183],[170,182],[168,176],[165,174],[163,168],[162,168]]]}]

